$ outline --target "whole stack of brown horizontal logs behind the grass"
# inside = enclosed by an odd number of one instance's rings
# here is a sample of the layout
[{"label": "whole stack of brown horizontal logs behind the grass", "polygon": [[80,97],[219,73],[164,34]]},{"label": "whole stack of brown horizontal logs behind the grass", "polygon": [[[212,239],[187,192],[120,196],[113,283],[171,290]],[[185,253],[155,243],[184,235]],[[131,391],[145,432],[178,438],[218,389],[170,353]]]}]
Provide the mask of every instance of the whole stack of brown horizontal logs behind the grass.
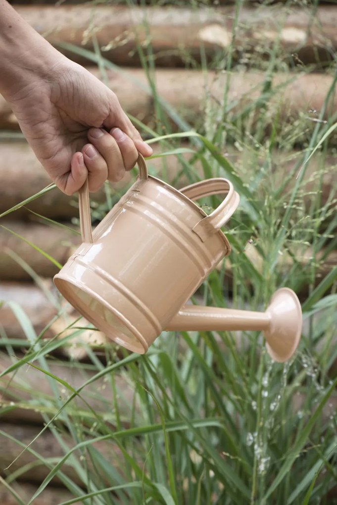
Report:
[{"label": "whole stack of brown horizontal logs behind the grass", "polygon": [[[169,115],[170,111],[178,111],[193,127],[199,127],[199,118],[206,107],[208,110],[216,110],[219,104],[223,104],[225,88],[228,89],[226,100],[230,104],[231,118],[240,115],[244,108],[249,109],[257,97],[260,98],[266,132],[271,125],[275,127],[276,117],[281,120],[280,123],[290,123],[301,118],[306,130],[310,131],[317,124],[323,105],[324,115],[320,121],[328,121],[337,110],[335,93],[330,93],[328,102],[324,104],[333,78],[328,73],[321,72],[321,68],[332,59],[337,49],[337,9],[334,6],[313,9],[309,6],[289,7],[279,4],[261,6],[251,2],[241,9],[239,18],[235,21],[235,6],[226,0],[214,2],[216,6],[212,2],[208,5],[202,2],[197,9],[191,8],[188,2],[185,7],[179,8],[172,5],[131,8],[116,5],[117,2],[114,6],[99,5],[93,8],[76,5],[76,0],[68,0],[65,5],[57,6],[34,5],[38,4],[38,0],[24,0],[22,3],[32,4],[18,5],[16,9],[38,32],[72,60],[86,65],[90,72],[100,78],[101,73],[94,66],[97,60],[94,48],[97,44],[101,56],[110,62],[107,63],[105,78],[118,95],[122,107],[154,130],[158,118],[148,79],[144,71],[137,68],[140,66],[140,54],[143,54],[146,61],[152,58],[155,62],[155,83],[163,108],[169,109]],[[45,0],[45,4],[49,3],[49,0]],[[148,4],[151,4],[150,0]],[[237,27],[233,30],[235,23]],[[76,46],[81,50],[74,51]],[[150,46],[152,56],[149,56]],[[225,71],[221,62],[230,48],[233,50],[234,67]],[[270,82],[268,75],[254,70],[254,64],[256,58],[267,59],[271,51],[276,49],[280,61],[297,67],[297,70],[301,70],[303,65],[311,65],[315,73],[278,73]],[[205,74],[197,70],[200,68],[201,55],[203,61],[216,62],[212,66],[213,71]],[[260,109],[254,108],[250,114],[251,125],[258,123],[259,115]],[[170,120],[172,128],[179,129],[172,113]],[[16,117],[1,96],[0,129],[12,133],[19,130]],[[84,368],[72,367],[67,360],[85,359],[88,342],[95,348],[105,344],[104,335],[89,330],[83,319],[77,321],[78,314],[61,300],[51,282],[51,277],[58,271],[58,264],[65,263],[80,241],[77,198],[52,189],[15,212],[2,216],[50,183],[46,172],[23,139],[13,141],[13,136],[6,137],[6,133],[3,137],[5,139],[0,141],[0,302],[3,300],[5,304],[0,306],[0,335],[13,342],[18,357],[24,356],[27,349],[26,329],[13,311],[13,307],[21,307],[33,332],[40,335],[42,343],[50,338],[67,340],[67,345],[61,349],[61,355],[59,348],[57,353],[53,352],[48,357],[46,363],[52,374],[77,388],[92,377],[92,372],[84,364]],[[183,146],[191,148],[190,144]],[[160,149],[161,147],[155,146],[155,153],[159,154]],[[249,166],[250,173],[254,173],[254,167],[259,167],[264,162],[263,154],[252,157],[246,147],[229,145],[226,149],[228,159],[235,165],[239,175],[246,174]],[[184,154],[183,158],[189,161],[191,156]],[[297,151],[275,151],[272,159],[275,184],[284,174],[294,173],[294,167],[301,156]],[[317,191],[318,180],[322,206],[333,205],[331,188],[335,184],[336,166],[337,155],[333,152],[327,155],[317,153],[312,157],[306,172],[301,202],[307,212],[312,205],[311,195]],[[180,175],[182,163],[176,156],[165,158],[164,171],[160,158],[149,161],[148,167],[150,173],[165,177],[167,182],[174,183],[177,187],[189,183],[185,176]],[[201,163],[196,163],[194,169],[200,177],[203,176]],[[295,175],[294,173],[294,177]],[[128,174],[120,183],[113,185],[116,198],[125,191],[131,180],[132,177]],[[285,188],[285,199],[290,189],[290,186]],[[104,190],[95,194],[94,200],[98,205],[105,205]],[[63,226],[44,218],[62,221]],[[259,269],[261,258],[257,251],[248,247],[245,254]],[[50,261],[50,257],[53,261]],[[299,252],[297,260],[305,268],[311,257],[312,249],[308,246]],[[284,267],[282,266],[285,271],[288,268],[287,261],[285,256]],[[332,252],[321,262],[319,280],[336,263],[337,258]],[[30,282],[32,279],[34,284]],[[231,269],[227,264],[228,282],[231,282],[230,279]],[[10,301],[12,305],[6,303]],[[78,332],[78,328],[83,330]],[[29,345],[32,345],[31,341]],[[99,357],[99,350],[97,356]],[[63,362],[55,363],[58,358]],[[0,373],[6,371],[11,363],[8,356],[0,354]],[[121,391],[121,420],[127,426],[134,392],[128,388],[123,376],[116,376],[115,382]],[[63,388],[60,384],[55,386],[62,396]],[[95,395],[97,388],[103,391],[104,386],[102,382],[95,382],[83,391],[82,396],[98,415],[114,424],[114,412],[110,407],[113,402],[111,392],[105,390],[100,397]],[[46,399],[55,394],[48,381],[36,369],[29,368],[28,374],[27,367],[21,367],[15,374],[6,374],[0,379],[0,407],[4,408],[0,422],[0,475],[7,477],[9,472],[19,472],[20,484],[14,489],[23,502],[28,502],[36,486],[47,475],[48,469],[43,465],[35,466],[36,458],[26,451],[9,471],[4,472],[3,469],[15,460],[21,450],[12,440],[28,444],[40,431],[43,416],[55,413],[50,406],[39,408],[33,392]],[[89,422],[85,410],[81,410],[81,402],[75,402],[74,405],[77,406],[82,421]],[[27,422],[29,426],[26,426]],[[70,437],[66,433],[62,437],[65,445],[71,447]],[[64,452],[60,447],[55,446],[53,435],[48,431],[32,446],[42,457],[48,458],[61,458]],[[114,458],[118,461],[120,453],[115,445],[106,447],[97,444],[95,447],[107,458],[113,454],[113,463]],[[80,486],[83,484],[71,466],[65,466],[64,471],[75,483]],[[68,498],[70,495],[62,488],[48,487],[34,503],[52,505]],[[0,487],[0,503],[12,505],[17,501],[5,487]]]}]

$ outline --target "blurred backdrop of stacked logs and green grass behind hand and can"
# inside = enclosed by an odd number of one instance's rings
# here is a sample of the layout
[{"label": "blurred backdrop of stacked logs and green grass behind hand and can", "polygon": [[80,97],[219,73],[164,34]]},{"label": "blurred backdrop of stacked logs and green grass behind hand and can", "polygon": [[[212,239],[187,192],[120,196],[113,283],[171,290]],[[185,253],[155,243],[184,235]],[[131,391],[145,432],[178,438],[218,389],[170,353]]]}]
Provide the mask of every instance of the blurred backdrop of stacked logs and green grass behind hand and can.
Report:
[{"label": "blurred backdrop of stacked logs and green grass behind hand and can", "polygon": [[[192,301],[264,310],[285,285],[304,327],[286,364],[257,332],[164,332],[141,357],[106,342],[52,284],[77,196],[0,96],[1,504],[337,503],[337,5],[11,3],[115,91],[152,175],[240,193]],[[94,225],[136,175],[92,195]]]}]

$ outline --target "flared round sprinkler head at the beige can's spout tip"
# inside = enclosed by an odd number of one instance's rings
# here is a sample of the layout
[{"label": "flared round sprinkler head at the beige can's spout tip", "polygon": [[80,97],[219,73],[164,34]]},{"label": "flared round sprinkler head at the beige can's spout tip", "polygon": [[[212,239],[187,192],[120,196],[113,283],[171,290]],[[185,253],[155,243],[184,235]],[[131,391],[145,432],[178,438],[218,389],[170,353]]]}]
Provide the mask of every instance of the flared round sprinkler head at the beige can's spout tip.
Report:
[{"label": "flared round sprinkler head at the beige can's spout tip", "polygon": [[301,304],[292,289],[278,289],[270,300],[266,313],[269,328],[264,330],[268,354],[274,361],[284,363],[294,354],[301,339]]}]

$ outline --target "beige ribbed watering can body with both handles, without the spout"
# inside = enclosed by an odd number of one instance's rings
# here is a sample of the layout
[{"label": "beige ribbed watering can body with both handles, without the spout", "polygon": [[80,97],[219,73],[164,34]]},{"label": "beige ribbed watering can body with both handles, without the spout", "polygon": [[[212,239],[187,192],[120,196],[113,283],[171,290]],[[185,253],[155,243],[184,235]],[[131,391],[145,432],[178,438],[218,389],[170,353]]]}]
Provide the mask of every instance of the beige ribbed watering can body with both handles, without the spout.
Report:
[{"label": "beige ribbed watering can body with both handles, without the spout", "polygon": [[143,167],[140,179],[92,236],[82,194],[85,241],[54,278],[73,307],[136,352],[147,350],[230,252],[220,230],[239,203],[230,183],[210,179],[186,192],[192,197],[224,192],[227,197],[215,215],[207,216],[186,194],[149,177]]}]

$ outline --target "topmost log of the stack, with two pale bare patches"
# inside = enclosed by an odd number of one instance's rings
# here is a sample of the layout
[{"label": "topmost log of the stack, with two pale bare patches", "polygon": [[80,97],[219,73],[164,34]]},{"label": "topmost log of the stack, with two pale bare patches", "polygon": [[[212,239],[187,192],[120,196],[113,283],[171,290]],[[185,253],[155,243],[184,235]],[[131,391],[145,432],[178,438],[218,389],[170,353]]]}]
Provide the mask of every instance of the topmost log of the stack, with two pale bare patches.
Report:
[{"label": "topmost log of the stack, with two pale bare patches", "polygon": [[[333,6],[246,6],[240,10],[233,39],[235,6],[17,6],[17,11],[55,46],[66,42],[93,51],[93,37],[102,56],[118,65],[139,65],[137,44],[147,54],[151,45],[156,65],[184,67],[225,57],[231,47],[243,64],[268,57],[275,44],[283,58],[307,64],[331,60],[337,47],[337,13]],[[72,59],[83,61],[74,52]],[[297,63],[297,60],[295,60]]]}]

